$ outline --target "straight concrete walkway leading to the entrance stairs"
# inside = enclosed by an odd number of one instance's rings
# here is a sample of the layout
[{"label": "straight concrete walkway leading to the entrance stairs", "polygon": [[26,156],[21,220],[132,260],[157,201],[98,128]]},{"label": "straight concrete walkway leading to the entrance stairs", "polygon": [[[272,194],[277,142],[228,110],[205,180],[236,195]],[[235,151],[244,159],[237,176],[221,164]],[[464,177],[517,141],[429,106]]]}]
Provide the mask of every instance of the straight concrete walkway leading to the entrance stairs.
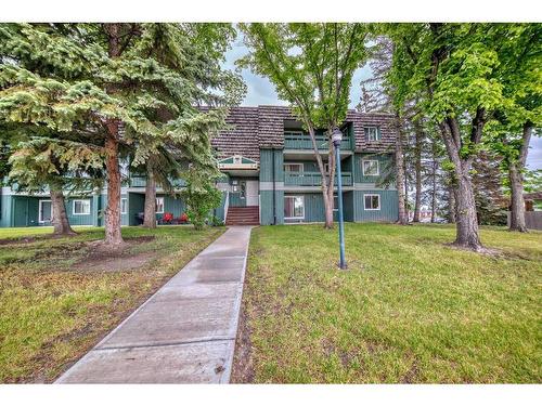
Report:
[{"label": "straight concrete walkway leading to the entrance stairs", "polygon": [[250,228],[230,227],[56,383],[228,383]]}]

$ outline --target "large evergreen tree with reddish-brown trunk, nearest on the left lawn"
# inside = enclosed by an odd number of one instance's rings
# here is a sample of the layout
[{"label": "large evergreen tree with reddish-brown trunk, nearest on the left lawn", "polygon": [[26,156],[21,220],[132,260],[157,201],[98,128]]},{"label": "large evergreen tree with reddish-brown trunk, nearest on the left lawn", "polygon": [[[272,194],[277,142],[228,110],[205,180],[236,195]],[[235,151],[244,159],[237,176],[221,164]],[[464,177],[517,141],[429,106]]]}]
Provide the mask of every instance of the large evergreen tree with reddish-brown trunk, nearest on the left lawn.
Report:
[{"label": "large evergreen tree with reddish-brown trunk, nearest on the left lawn", "polygon": [[[225,112],[199,104],[235,103],[238,77],[209,52],[215,32],[224,44],[231,26],[191,24],[5,24],[0,26],[0,120],[76,133],[101,148],[107,181],[105,243],[122,243],[122,148],[134,165],[178,145],[196,166],[215,167],[209,132],[224,126]],[[69,137],[62,140],[69,142]],[[72,149],[78,145],[73,144]]]}]

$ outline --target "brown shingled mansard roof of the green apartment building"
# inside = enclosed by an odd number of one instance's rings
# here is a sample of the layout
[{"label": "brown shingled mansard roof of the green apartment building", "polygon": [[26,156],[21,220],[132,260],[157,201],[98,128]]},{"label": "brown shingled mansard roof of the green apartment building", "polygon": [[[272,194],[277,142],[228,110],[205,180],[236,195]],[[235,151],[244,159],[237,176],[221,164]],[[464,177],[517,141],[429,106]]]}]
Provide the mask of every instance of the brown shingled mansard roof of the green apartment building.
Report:
[{"label": "brown shingled mansard roof of the green apartment building", "polygon": [[[292,108],[286,106],[233,107],[227,122],[230,129],[211,140],[218,157],[241,155],[259,161],[260,148],[284,147],[284,121],[296,121]],[[359,113],[348,110],[345,123],[351,123],[358,152],[390,152],[397,130],[393,116],[385,113]],[[364,127],[377,126],[380,140],[367,142]]]}]

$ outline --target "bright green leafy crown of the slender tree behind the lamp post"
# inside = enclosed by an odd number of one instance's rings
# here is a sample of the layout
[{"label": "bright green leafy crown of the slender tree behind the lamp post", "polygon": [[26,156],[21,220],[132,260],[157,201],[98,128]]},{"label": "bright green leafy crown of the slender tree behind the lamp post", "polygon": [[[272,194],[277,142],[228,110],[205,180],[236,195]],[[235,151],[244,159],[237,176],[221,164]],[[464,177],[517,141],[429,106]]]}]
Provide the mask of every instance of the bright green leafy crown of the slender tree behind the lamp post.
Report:
[{"label": "bright green leafy crown of the slender tree behind the lamp post", "polygon": [[274,84],[302,122],[332,128],[346,118],[352,76],[363,66],[364,24],[242,24],[250,67]]}]

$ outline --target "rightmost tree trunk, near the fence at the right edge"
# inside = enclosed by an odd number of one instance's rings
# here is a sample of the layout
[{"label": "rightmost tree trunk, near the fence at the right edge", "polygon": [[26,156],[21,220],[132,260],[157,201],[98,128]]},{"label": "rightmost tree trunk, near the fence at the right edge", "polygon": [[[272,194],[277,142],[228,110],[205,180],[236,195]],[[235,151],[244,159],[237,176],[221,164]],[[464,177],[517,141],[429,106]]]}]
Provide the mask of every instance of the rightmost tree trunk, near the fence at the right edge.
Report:
[{"label": "rightmost tree trunk, near the fence at the right edge", "polygon": [[508,168],[508,180],[511,185],[511,221],[509,230],[527,233],[525,224],[525,201],[524,201],[524,175],[522,171],[527,162],[527,153],[532,134],[532,125],[527,122],[524,126],[522,144],[517,161],[511,161]]}]

